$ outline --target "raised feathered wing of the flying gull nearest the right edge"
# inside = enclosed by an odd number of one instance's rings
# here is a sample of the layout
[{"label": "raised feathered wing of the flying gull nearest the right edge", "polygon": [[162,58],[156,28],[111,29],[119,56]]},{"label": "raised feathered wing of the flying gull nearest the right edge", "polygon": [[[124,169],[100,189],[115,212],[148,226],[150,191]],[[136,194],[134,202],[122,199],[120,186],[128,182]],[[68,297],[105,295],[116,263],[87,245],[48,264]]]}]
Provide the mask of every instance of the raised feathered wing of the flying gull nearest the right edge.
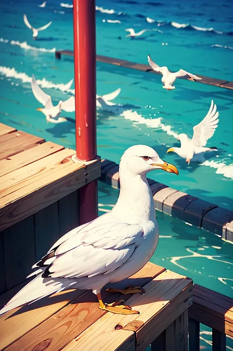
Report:
[{"label": "raised feathered wing of the flying gull nearest the right edge", "polygon": [[213,100],[211,100],[211,105],[208,113],[199,124],[193,127],[192,142],[194,145],[206,145],[207,140],[213,136],[215,129],[218,126],[218,116],[219,113],[217,111],[217,106],[214,104]]}]

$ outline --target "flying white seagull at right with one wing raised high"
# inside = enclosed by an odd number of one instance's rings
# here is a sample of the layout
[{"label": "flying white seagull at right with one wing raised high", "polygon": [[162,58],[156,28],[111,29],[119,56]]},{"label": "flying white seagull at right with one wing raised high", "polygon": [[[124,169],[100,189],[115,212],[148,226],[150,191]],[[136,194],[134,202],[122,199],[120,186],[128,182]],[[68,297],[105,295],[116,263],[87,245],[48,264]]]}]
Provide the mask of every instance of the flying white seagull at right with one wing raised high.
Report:
[{"label": "flying white seagull at right with one wing raised high", "polygon": [[184,133],[179,134],[177,140],[180,141],[180,147],[170,147],[167,153],[174,151],[180,157],[185,158],[189,165],[190,160],[195,157],[195,155],[197,161],[200,159],[200,156],[203,158],[204,152],[217,151],[218,149],[216,147],[205,147],[205,145],[208,139],[214,135],[219,122],[218,116],[217,106],[214,104],[213,100],[211,100],[208,113],[199,124],[193,127],[193,138],[189,139]]}]

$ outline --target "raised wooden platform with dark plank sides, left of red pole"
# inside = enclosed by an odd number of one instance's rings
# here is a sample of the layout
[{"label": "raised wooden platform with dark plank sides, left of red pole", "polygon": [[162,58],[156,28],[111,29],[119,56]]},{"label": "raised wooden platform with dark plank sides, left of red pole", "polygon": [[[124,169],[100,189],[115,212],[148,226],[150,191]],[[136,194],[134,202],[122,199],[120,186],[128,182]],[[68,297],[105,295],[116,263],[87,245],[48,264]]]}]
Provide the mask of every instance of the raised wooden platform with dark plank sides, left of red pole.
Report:
[{"label": "raised wooden platform with dark plank sides, left of red pole", "polygon": [[25,281],[31,265],[79,225],[79,189],[101,175],[100,159],[0,123],[0,293]]}]

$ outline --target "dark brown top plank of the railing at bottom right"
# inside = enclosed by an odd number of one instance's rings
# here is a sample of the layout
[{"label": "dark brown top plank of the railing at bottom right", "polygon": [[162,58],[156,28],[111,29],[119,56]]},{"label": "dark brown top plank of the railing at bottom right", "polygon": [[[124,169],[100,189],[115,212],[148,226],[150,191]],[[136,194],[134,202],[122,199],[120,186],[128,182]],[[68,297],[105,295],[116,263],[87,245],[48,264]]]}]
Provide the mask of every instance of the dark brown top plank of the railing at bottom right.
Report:
[{"label": "dark brown top plank of the railing at bottom right", "polygon": [[233,337],[233,299],[195,285],[189,316]]}]

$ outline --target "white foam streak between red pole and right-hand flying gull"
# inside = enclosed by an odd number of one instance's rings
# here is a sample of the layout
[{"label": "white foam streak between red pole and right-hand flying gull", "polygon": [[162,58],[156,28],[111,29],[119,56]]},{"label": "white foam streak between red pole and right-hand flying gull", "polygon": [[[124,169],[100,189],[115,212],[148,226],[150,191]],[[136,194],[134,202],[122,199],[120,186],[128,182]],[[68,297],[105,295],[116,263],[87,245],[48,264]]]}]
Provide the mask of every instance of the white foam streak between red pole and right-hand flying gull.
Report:
[{"label": "white foam streak between red pole and right-hand flying gull", "polygon": [[145,118],[142,115],[139,115],[136,111],[126,110],[121,114],[125,119],[129,119],[133,124],[145,124],[148,128],[162,129],[168,135],[173,136],[174,138],[178,137],[178,134],[172,130],[171,125],[166,125],[161,122],[162,117],[159,118]]}]

